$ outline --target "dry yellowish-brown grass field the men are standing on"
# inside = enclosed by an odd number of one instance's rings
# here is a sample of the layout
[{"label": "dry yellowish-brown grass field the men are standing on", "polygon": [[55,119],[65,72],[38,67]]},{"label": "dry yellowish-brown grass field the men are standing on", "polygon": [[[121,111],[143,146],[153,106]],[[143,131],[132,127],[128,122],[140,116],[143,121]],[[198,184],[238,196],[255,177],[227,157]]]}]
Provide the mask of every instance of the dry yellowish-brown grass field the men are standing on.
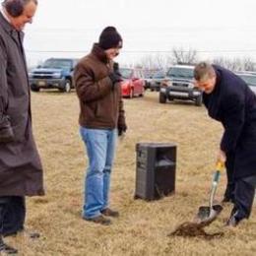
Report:
[{"label": "dry yellowish-brown grass field the men are standing on", "polygon": [[[118,145],[111,202],[121,217],[111,226],[81,219],[86,165],[78,135],[78,100],[53,92],[32,94],[33,128],[45,170],[45,197],[28,200],[27,224],[41,232],[36,241],[18,236],[9,242],[20,255],[253,255],[256,215],[237,228],[224,227],[231,206],[207,231],[224,231],[211,241],[167,237],[176,225],[191,221],[207,204],[222,127],[204,107],[158,102],[158,94],[125,99],[128,133]],[[159,201],[133,200],[135,144],[175,143],[178,149],[176,193]],[[222,176],[217,199],[224,192]]]}]

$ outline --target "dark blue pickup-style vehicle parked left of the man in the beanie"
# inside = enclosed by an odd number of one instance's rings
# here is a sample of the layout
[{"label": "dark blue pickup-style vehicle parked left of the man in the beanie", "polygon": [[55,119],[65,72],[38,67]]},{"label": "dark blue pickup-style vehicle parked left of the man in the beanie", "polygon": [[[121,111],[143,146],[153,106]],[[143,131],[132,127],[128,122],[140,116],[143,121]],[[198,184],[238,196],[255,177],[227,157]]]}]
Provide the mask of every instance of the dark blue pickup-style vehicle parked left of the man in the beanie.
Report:
[{"label": "dark blue pickup-style vehicle parked left of the man in the beanie", "polygon": [[29,72],[33,92],[40,89],[58,89],[69,93],[74,88],[73,71],[78,59],[50,58]]}]

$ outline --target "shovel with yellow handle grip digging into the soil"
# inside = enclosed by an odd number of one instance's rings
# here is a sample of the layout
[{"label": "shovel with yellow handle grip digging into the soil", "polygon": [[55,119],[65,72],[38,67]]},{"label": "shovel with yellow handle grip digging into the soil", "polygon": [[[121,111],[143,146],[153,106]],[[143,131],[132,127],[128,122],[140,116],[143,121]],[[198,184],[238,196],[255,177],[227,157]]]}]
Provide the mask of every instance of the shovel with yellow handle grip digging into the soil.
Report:
[{"label": "shovel with yellow handle grip digging into the soil", "polygon": [[217,218],[217,216],[223,211],[223,207],[221,205],[214,205],[214,198],[220,180],[221,172],[223,171],[223,169],[224,162],[218,161],[212,182],[209,206],[199,207],[197,214],[198,223],[212,223]]}]

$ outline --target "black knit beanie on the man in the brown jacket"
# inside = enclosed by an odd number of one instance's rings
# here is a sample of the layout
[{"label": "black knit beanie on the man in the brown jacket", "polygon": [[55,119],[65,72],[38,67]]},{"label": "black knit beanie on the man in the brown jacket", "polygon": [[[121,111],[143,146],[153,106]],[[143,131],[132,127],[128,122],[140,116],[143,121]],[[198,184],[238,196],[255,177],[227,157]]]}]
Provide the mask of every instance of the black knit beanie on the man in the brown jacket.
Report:
[{"label": "black knit beanie on the man in the brown jacket", "polygon": [[98,46],[104,50],[121,48],[123,40],[114,27],[106,27],[99,35]]}]

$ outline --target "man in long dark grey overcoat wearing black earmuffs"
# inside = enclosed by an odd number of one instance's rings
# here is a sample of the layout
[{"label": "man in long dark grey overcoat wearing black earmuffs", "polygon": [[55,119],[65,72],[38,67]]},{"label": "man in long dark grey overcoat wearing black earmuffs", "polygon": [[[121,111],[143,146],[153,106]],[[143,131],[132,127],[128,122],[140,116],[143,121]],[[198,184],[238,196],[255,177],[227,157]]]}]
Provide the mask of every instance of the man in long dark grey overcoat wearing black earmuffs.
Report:
[{"label": "man in long dark grey overcoat wearing black earmuffs", "polygon": [[0,240],[24,229],[25,196],[44,194],[22,32],[36,7],[36,0],[5,0],[0,12]]}]

